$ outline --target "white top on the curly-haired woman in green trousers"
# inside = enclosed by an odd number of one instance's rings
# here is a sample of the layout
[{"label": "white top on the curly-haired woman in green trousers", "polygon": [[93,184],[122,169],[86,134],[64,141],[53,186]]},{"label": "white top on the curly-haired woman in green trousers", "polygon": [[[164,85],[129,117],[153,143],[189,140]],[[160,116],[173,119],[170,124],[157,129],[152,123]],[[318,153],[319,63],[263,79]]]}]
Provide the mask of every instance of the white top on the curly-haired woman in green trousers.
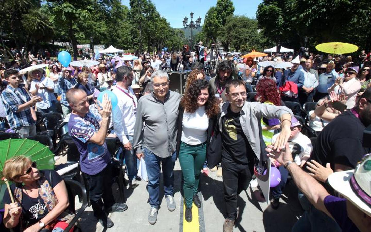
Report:
[{"label": "white top on the curly-haired woman in green trousers", "polygon": [[193,113],[184,110],[182,142],[190,145],[204,143],[207,140],[207,128],[209,128],[209,118],[204,106],[198,107]]}]

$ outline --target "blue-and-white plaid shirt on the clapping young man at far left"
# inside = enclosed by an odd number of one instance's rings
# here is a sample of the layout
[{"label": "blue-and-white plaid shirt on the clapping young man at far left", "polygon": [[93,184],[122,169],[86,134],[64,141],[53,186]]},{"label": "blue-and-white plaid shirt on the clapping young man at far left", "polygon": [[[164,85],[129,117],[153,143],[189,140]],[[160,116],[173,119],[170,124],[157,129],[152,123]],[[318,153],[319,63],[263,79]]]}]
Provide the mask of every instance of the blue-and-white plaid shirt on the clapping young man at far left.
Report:
[{"label": "blue-and-white plaid shirt on the clapping young man at far left", "polygon": [[31,100],[24,88],[19,87],[14,89],[12,86],[8,85],[1,94],[1,97],[4,107],[6,108],[6,117],[10,128],[14,129],[17,127],[35,124],[35,120],[32,118],[30,108],[17,112],[20,105]]}]

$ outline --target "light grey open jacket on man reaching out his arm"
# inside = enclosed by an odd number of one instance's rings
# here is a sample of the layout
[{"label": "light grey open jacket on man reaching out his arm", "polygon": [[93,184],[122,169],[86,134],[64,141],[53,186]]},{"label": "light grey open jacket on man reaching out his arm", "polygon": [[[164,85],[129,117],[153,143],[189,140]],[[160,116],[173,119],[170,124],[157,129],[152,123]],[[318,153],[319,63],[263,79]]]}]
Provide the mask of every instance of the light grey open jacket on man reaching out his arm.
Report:
[{"label": "light grey open jacket on man reaching out his arm", "polygon": [[[221,107],[221,113],[218,118],[219,131],[222,131],[221,118],[227,114],[229,104],[229,102],[224,102]],[[265,152],[265,143],[263,141],[261,127],[262,117],[280,118],[283,114],[290,114],[291,117],[293,117],[292,111],[287,107],[247,101],[243,105],[240,116],[241,127],[255,153],[255,156],[259,160],[261,160],[262,152]],[[263,158],[263,160],[266,160],[266,158]]]}]

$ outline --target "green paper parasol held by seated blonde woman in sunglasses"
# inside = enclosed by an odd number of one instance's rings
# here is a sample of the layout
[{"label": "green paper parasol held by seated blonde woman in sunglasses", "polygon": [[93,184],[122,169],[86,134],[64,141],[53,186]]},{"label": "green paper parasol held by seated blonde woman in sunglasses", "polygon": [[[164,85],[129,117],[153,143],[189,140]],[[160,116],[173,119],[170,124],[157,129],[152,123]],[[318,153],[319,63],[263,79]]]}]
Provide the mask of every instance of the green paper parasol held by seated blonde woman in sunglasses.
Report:
[{"label": "green paper parasol held by seated blonde woman in sunglasses", "polygon": [[26,138],[10,138],[0,141],[0,208],[4,208],[2,201],[7,189],[4,181],[1,180],[3,177],[3,165],[6,160],[22,155],[30,157],[32,161],[36,161],[37,169],[39,170],[54,169],[54,154],[49,147],[38,141]]}]

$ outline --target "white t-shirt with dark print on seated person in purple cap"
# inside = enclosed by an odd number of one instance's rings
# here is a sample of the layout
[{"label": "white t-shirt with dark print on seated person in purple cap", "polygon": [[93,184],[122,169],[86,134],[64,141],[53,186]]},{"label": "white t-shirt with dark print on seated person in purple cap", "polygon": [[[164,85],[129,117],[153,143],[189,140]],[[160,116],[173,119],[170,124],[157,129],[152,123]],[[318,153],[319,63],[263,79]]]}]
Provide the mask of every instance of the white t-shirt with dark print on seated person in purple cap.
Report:
[{"label": "white t-shirt with dark print on seated person in purple cap", "polygon": [[[272,143],[274,143],[280,133],[273,135]],[[310,156],[312,152],[312,142],[311,140],[299,132],[296,137],[288,141],[292,158],[295,163],[300,165],[303,156]]]}]

